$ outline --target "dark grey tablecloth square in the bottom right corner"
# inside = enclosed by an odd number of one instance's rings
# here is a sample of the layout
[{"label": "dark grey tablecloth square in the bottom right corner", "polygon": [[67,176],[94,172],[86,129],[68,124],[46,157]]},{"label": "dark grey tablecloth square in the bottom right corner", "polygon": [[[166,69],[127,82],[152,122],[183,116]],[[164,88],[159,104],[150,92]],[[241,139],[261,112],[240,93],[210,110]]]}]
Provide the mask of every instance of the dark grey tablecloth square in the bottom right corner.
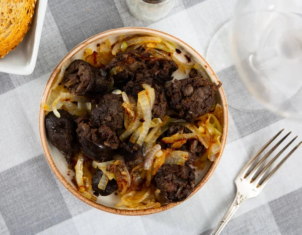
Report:
[{"label": "dark grey tablecloth square in the bottom right corner", "polygon": [[302,188],[269,202],[282,234],[302,234]]}]

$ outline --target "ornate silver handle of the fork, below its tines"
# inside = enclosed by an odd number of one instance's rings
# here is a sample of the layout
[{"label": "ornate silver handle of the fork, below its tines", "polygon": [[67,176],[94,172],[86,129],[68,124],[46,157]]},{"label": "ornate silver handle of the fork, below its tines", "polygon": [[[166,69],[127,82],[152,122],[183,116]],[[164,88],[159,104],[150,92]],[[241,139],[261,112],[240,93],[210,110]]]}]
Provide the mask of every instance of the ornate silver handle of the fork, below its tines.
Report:
[{"label": "ornate silver handle of the fork, below its tines", "polygon": [[217,226],[212,231],[211,235],[220,234],[220,232],[222,231],[222,229],[224,228],[224,226],[226,225],[226,223],[229,222],[229,220],[235,214],[235,212],[237,211],[237,209],[239,208],[239,206],[241,205],[241,203],[244,202],[244,200],[246,200],[246,199],[247,198],[245,196],[243,196],[240,192],[237,192],[237,196],[235,197],[235,199],[232,202],[231,206],[225,212],[225,214],[223,215],[222,219],[219,221],[219,223],[217,224]]}]

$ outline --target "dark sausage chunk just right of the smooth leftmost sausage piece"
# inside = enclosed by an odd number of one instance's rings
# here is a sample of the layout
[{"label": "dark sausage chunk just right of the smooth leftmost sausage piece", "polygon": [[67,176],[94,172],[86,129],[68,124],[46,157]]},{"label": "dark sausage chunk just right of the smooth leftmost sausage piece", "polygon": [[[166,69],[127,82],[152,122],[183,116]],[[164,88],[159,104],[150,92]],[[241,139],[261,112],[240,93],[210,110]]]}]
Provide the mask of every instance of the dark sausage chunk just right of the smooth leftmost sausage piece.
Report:
[{"label": "dark sausage chunk just right of the smooth leftmost sausage piece", "polygon": [[111,160],[113,149],[117,149],[119,146],[116,132],[105,125],[93,128],[88,115],[84,115],[76,121],[78,123],[78,141],[82,152],[98,162]]}]

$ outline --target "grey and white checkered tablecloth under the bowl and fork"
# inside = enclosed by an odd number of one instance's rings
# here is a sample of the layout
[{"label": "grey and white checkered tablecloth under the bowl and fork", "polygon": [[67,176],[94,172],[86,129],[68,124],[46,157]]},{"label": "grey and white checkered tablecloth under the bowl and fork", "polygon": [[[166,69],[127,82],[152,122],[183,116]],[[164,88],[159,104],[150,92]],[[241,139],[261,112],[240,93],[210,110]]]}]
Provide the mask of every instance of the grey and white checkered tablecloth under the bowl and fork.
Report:
[{"label": "grey and white checkered tablecloth under the bowl and fork", "polygon": [[[0,234],[209,234],[233,201],[234,179],[248,159],[281,128],[293,136],[302,132],[301,123],[255,103],[232,63],[216,70],[230,115],[221,161],[194,196],[158,214],[114,215],[69,193],[46,162],[38,111],[50,73],[83,40],[113,28],[143,26],[175,35],[206,57],[214,34],[232,19],[235,2],[177,0],[167,18],[148,24],[131,16],[124,0],[48,1],[34,72],[0,73]],[[251,105],[257,108],[242,108]],[[301,157],[302,148],[257,198],[242,205],[222,234],[302,234]]]}]

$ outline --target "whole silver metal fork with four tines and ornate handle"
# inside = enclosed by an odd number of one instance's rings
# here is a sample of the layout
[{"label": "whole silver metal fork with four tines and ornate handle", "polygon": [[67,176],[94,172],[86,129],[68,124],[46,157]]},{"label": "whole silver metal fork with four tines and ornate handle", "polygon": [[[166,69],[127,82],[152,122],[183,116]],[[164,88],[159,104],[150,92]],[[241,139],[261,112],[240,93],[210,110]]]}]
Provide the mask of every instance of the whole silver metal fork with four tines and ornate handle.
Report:
[{"label": "whole silver metal fork with four tines and ornate handle", "polygon": [[211,235],[219,234],[226,223],[232,218],[235,214],[239,206],[248,198],[256,197],[271,179],[271,177],[276,173],[276,171],[281,167],[281,165],[289,158],[289,156],[298,148],[298,146],[302,143],[299,142],[285,157],[282,161],[265,177],[263,176],[269,172],[269,167],[275,162],[275,160],[284,152],[284,150],[298,137],[295,136],[285,147],[283,147],[275,156],[274,158],[263,168],[263,170],[256,175],[259,171],[263,162],[270,156],[270,154],[286,139],[286,137],[291,133],[287,133],[278,143],[275,144],[264,156],[263,158],[257,163],[257,165],[250,171],[250,167],[252,164],[256,163],[257,157],[266,149],[266,147],[273,142],[283,131],[284,129],[280,130],[273,138],[271,138],[256,154],[253,158],[247,163],[247,165],[241,170],[239,175],[235,180],[235,185],[237,187],[237,194],[235,200],[232,202],[229,209],[225,212],[222,219],[219,221],[217,226],[212,231]]}]

